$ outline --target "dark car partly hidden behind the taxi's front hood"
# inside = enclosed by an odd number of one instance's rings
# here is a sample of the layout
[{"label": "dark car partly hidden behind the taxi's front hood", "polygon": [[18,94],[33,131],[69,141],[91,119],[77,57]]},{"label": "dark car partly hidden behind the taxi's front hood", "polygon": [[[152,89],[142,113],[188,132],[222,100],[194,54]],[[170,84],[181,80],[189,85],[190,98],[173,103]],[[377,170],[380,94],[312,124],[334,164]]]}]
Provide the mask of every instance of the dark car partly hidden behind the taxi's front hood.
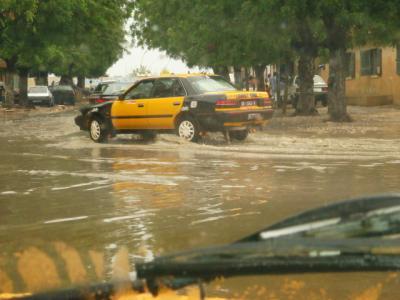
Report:
[{"label": "dark car partly hidden behind the taxi's front hood", "polygon": [[90,104],[103,103],[118,99],[127,88],[132,86],[132,82],[104,81],[99,83],[89,96]]}]

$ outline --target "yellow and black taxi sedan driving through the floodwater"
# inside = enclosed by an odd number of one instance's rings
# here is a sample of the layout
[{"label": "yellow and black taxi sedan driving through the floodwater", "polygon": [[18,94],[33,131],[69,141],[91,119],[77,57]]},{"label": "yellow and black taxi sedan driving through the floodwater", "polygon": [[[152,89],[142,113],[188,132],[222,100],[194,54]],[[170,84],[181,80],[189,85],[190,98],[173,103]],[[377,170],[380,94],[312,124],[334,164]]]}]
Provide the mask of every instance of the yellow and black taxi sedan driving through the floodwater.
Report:
[{"label": "yellow and black taxi sedan driving through the floodwater", "polygon": [[118,133],[160,131],[188,141],[207,131],[244,140],[249,128],[263,125],[272,112],[266,92],[239,91],[220,76],[185,74],[140,80],[117,101],[82,108],[75,123],[95,142]]}]

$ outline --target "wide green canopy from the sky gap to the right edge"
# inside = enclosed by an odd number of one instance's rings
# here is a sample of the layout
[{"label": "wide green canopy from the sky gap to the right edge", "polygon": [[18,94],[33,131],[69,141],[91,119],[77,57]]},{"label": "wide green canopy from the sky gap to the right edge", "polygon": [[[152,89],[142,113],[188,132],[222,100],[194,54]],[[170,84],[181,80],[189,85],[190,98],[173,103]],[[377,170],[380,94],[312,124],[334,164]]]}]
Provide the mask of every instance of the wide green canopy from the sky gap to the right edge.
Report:
[{"label": "wide green canopy from the sky gap to the right edge", "polygon": [[133,35],[199,66],[254,66],[365,43],[399,32],[396,0],[136,0]]}]

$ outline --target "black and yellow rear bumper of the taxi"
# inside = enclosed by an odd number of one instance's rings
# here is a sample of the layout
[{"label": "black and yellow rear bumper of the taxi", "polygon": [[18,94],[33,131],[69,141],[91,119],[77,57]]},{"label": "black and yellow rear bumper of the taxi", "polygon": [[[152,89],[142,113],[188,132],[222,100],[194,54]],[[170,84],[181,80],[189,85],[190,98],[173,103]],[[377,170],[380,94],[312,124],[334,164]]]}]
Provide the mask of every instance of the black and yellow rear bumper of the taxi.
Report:
[{"label": "black and yellow rear bumper of the taxi", "polygon": [[272,114],[272,109],[217,111],[213,114],[198,116],[198,121],[204,130],[220,131],[261,126],[272,117]]}]

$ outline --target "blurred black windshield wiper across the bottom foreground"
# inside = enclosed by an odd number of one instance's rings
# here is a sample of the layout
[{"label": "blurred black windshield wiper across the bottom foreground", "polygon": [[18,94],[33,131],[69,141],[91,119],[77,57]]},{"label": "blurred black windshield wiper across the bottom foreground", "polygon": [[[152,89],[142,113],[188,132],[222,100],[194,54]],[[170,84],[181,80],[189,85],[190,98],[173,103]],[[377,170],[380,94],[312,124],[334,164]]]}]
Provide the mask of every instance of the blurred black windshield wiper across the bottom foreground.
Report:
[{"label": "blurred black windshield wiper across the bottom foreground", "polygon": [[[397,271],[400,270],[399,234],[400,195],[347,200],[306,211],[232,244],[137,263],[136,278],[129,286],[139,292],[149,290],[157,294],[161,286],[179,289],[219,277]],[[102,291],[101,295],[107,298],[114,287],[100,284],[89,290]],[[80,295],[76,291],[59,291],[52,298],[71,299],[68,293]],[[43,299],[49,295],[31,298]],[[96,297],[99,298],[97,294]]]}]

